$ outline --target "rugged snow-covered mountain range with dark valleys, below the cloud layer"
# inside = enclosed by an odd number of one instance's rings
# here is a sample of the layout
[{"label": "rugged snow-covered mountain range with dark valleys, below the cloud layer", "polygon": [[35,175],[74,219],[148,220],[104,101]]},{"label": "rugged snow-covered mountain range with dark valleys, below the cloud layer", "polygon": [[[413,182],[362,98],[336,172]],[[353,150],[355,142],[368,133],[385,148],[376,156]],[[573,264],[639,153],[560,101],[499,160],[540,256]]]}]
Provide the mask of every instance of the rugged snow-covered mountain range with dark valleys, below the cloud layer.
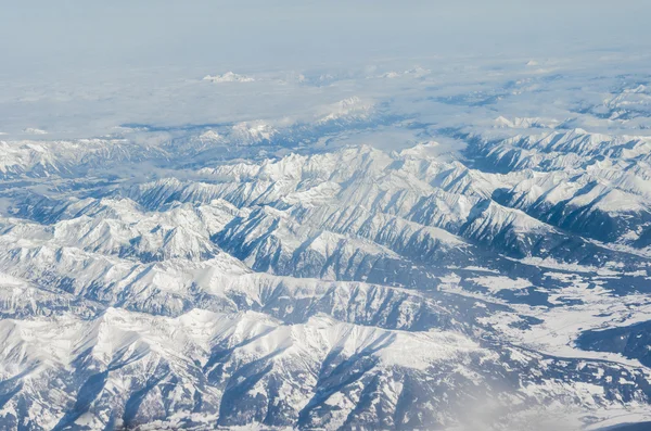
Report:
[{"label": "rugged snow-covered mountain range with dark valleys, below the cloud layer", "polygon": [[[413,429],[477,400],[502,421],[646,408],[646,351],[600,342],[651,313],[644,140],[472,142],[472,164],[357,147],[81,192],[88,159],[25,164],[61,186],[5,192],[2,423]],[[526,162],[552,151],[582,163]]]}]

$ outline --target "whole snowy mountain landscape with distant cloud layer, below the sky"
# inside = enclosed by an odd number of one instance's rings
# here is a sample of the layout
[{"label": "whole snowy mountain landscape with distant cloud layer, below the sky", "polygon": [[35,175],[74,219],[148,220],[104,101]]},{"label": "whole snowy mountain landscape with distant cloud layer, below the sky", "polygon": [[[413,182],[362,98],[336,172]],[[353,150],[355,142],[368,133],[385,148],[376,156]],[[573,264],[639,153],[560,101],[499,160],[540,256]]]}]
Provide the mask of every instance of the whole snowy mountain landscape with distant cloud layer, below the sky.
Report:
[{"label": "whole snowy mountain landscape with distant cloud layer, below the sky", "polygon": [[0,428],[650,420],[650,64],[3,87]]}]

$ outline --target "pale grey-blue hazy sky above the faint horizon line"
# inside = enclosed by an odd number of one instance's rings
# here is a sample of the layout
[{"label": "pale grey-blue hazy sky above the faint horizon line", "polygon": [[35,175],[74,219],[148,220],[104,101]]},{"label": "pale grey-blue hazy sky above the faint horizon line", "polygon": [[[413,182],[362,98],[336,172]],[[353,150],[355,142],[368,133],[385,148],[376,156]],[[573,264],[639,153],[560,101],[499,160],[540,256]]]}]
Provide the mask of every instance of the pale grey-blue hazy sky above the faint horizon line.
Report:
[{"label": "pale grey-blue hazy sky above the faint horizon line", "polygon": [[649,0],[0,1],[3,74],[640,49]]}]

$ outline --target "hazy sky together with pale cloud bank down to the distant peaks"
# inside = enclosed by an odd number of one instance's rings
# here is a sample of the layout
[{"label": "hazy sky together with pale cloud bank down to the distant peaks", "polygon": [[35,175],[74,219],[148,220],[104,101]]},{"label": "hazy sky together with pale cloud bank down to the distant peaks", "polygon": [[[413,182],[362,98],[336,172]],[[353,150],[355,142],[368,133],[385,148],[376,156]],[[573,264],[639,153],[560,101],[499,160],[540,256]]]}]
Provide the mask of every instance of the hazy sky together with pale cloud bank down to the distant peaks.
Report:
[{"label": "hazy sky together with pale cloud bank down to the distant peaks", "polygon": [[[281,121],[349,97],[439,122],[470,114],[411,106],[425,90],[455,96],[493,91],[518,74],[634,71],[620,59],[648,72],[649,16],[649,0],[0,0],[0,134],[78,138],[132,123]],[[529,60],[540,66],[525,69]],[[417,66],[431,75],[369,79]],[[202,80],[229,71],[256,81]],[[304,85],[298,74],[317,80]],[[318,78],[331,75],[324,88]],[[25,131],[34,129],[49,135]]]}]

